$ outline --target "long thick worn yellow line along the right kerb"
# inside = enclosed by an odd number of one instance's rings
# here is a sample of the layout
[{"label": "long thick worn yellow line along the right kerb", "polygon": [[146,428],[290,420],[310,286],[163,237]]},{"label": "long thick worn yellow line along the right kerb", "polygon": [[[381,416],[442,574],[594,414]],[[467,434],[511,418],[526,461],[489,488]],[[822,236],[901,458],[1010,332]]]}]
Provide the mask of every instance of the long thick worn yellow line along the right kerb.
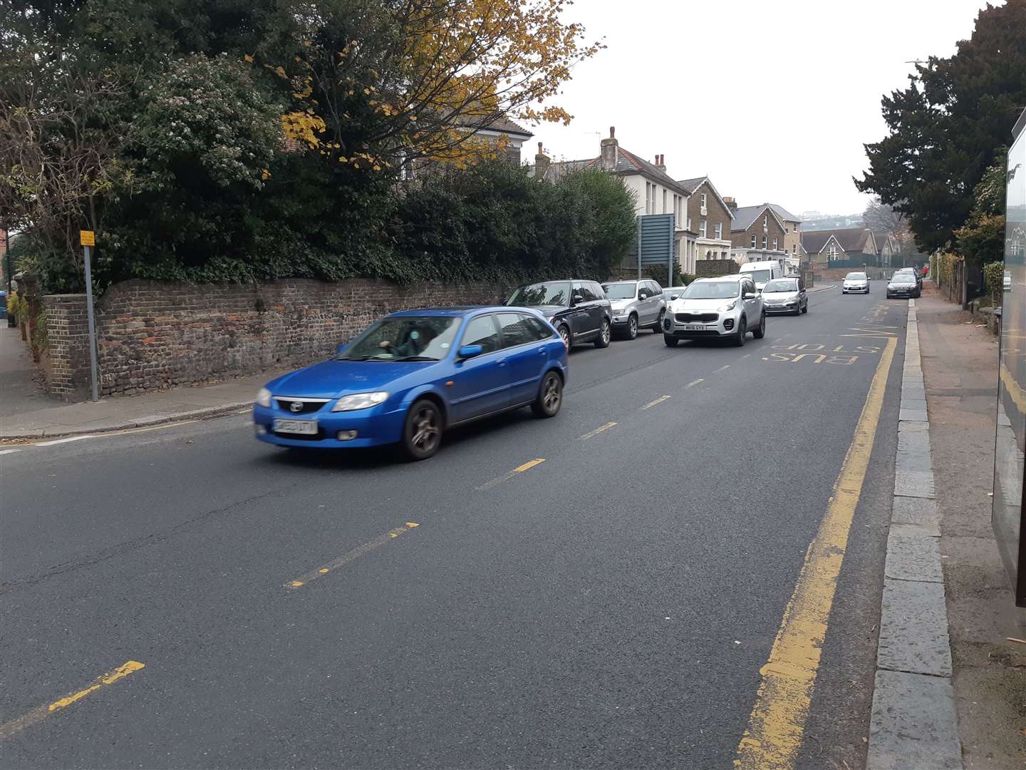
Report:
[{"label": "long thick worn yellow line along the right kerb", "polygon": [[755,706],[734,761],[735,767],[741,770],[790,770],[801,747],[837,577],[873,452],[887,374],[897,346],[896,338],[887,339],[826,515],[805,552],[770,660],[759,671],[762,680]]}]

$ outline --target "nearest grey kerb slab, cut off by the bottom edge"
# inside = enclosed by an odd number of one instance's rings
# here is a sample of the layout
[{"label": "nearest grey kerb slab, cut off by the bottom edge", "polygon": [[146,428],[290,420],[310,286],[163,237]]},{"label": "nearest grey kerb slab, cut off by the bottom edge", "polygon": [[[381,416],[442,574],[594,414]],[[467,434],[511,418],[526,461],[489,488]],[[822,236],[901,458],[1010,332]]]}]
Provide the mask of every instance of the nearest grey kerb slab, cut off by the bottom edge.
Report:
[{"label": "nearest grey kerb slab, cut off by the bottom edge", "polygon": [[876,671],[867,770],[959,770],[951,680]]}]

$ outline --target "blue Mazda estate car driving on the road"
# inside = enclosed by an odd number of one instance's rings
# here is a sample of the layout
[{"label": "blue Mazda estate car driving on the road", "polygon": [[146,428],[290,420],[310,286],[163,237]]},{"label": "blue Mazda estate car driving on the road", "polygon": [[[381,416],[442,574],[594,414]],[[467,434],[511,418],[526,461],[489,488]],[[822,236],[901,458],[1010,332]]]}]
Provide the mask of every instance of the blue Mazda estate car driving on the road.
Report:
[{"label": "blue Mazda estate car driving on the road", "polygon": [[453,425],[521,407],[554,417],[566,372],[565,345],[535,310],[406,310],[334,358],[271,380],[253,422],[260,440],[280,447],[399,444],[423,460]]}]

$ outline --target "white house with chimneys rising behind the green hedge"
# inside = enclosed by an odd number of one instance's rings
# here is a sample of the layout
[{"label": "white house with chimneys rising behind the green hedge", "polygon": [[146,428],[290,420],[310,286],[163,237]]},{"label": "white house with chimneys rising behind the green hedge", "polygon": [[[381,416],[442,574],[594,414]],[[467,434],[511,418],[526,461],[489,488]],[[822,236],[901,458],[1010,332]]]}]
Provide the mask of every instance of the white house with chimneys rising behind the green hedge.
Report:
[{"label": "white house with chimneys rising behind the green hedge", "polygon": [[553,161],[545,154],[543,145],[539,142],[535,163],[527,168],[532,176],[549,182],[585,168],[601,168],[619,177],[624,187],[634,193],[635,215],[673,215],[674,251],[680,270],[694,273],[697,233],[686,226],[688,192],[666,172],[665,156],[657,155],[655,160],[655,163],[649,163],[640,155],[621,147],[616,126],[609,126],[609,136],[601,141],[598,157]]}]

